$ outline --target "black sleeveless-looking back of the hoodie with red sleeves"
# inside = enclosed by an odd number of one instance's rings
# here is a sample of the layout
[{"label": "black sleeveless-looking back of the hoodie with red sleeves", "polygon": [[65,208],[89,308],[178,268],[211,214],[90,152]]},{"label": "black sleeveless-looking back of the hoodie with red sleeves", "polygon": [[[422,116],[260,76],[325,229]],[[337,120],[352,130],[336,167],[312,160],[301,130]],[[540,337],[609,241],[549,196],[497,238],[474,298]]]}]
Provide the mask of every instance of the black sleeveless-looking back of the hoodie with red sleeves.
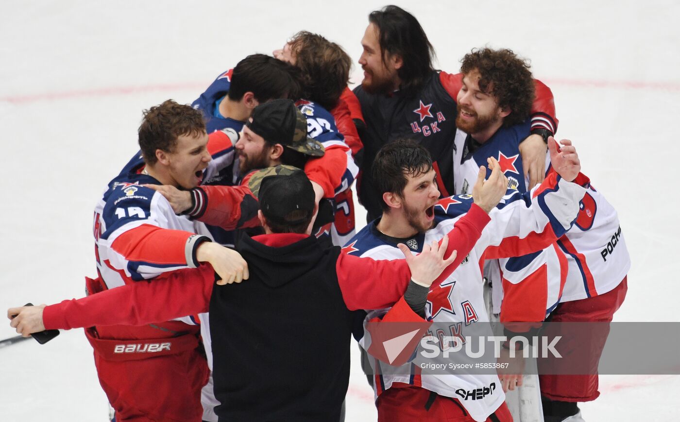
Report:
[{"label": "black sleeveless-looking back of the hoodie with red sleeves", "polygon": [[352,332],[337,281],[340,248],[314,236],[284,247],[240,240],[250,279],[216,285],[210,301],[220,422],[337,422]]}]

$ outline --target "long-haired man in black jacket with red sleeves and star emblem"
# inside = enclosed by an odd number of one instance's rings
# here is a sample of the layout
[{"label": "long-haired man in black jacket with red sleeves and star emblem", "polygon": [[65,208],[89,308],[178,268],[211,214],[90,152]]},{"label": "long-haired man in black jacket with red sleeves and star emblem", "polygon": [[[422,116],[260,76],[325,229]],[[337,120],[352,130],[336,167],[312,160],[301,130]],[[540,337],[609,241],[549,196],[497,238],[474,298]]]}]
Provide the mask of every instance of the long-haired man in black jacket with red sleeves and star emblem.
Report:
[{"label": "long-haired man in black jacket with red sleeves and star emblem", "polygon": [[[452,150],[461,77],[434,70],[432,45],[418,20],[400,7],[388,5],[371,12],[361,43],[359,63],[364,80],[354,94],[367,130],[362,135],[364,160],[358,194],[371,221],[380,214],[371,165],[379,148],[394,139],[416,139],[425,145],[434,160],[439,192],[443,196],[454,193]],[[536,92],[532,106],[532,132],[536,135],[522,143],[531,186],[543,179],[543,141],[557,128],[549,88],[536,81]]]}]

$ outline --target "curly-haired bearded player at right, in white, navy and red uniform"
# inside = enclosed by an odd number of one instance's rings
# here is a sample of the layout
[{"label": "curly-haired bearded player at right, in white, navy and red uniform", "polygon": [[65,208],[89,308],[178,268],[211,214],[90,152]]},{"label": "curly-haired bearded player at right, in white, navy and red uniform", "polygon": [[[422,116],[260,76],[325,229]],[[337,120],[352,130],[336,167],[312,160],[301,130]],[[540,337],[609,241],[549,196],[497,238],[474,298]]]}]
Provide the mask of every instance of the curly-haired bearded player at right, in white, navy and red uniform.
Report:
[{"label": "curly-haired bearded player at right, in white, navy and red uniform", "polygon": [[[467,193],[466,185],[474,180],[479,163],[488,156],[497,156],[510,185],[524,192],[519,144],[529,132],[528,124],[507,126],[528,117],[528,65],[509,50],[484,48],[466,54],[461,72],[464,86],[458,94],[456,120],[456,161],[460,162],[455,177],[457,192]],[[510,120],[513,115],[516,118]],[[625,239],[616,211],[600,192],[588,189],[574,227],[554,245],[541,254],[500,260],[500,273],[492,280],[494,309],[500,312],[501,322],[543,321],[548,314],[553,322],[610,322],[621,306],[630,269]],[[616,245],[615,253],[610,245]],[[602,251],[606,251],[604,257]],[[514,326],[530,328],[526,324]],[[605,340],[602,336],[592,347],[589,374],[540,376],[546,421],[579,421],[576,402],[598,397],[596,365]],[[545,372],[551,364],[541,361]]]}]

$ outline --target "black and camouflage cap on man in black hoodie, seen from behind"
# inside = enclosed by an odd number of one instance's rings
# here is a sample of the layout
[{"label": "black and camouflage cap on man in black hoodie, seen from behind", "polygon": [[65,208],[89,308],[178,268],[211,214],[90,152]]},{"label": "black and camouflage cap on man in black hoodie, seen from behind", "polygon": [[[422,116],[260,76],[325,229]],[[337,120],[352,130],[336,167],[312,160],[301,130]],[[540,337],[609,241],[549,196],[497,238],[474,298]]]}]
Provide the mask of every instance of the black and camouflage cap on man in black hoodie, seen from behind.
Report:
[{"label": "black and camouflage cap on man in black hoodie, seen from behind", "polygon": [[[305,172],[293,166],[279,165],[256,171],[248,188],[258,198],[262,215],[268,221],[296,226],[309,220],[314,213],[316,195]],[[307,211],[305,217],[287,221],[292,211]]]}]

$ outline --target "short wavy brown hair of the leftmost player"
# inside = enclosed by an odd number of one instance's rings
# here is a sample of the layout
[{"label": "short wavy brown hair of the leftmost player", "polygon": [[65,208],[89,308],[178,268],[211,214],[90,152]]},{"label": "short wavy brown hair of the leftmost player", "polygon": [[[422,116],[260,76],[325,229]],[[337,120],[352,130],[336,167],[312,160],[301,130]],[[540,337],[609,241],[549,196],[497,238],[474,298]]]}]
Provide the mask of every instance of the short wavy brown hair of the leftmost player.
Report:
[{"label": "short wavy brown hair of the leftmost player", "polygon": [[146,164],[156,164],[156,150],[173,152],[177,138],[205,133],[205,121],[200,110],[173,100],[144,110],[139,125],[139,148]]}]

